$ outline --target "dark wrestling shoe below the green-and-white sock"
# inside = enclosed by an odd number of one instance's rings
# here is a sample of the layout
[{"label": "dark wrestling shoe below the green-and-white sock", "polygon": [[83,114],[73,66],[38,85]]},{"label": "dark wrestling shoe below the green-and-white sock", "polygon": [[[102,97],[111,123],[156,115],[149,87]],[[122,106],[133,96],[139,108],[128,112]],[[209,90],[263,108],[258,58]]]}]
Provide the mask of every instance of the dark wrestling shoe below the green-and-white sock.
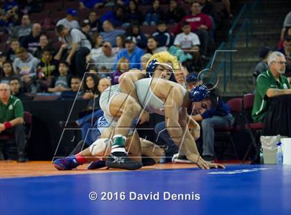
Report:
[{"label": "dark wrestling shoe below the green-and-white sock", "polygon": [[141,162],[131,160],[126,153],[118,153],[118,156],[114,153],[114,155],[111,154],[107,157],[106,166],[114,169],[134,170],[140,169],[143,164]]}]

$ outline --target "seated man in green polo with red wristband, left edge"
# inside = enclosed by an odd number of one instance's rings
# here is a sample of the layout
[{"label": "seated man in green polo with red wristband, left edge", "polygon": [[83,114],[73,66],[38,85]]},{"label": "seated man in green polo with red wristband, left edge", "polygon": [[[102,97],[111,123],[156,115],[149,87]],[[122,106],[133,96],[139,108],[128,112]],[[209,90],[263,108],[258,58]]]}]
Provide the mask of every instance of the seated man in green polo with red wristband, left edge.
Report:
[{"label": "seated man in green polo with red wristband, left edge", "polygon": [[23,114],[24,108],[20,99],[11,95],[9,85],[0,84],[0,135],[14,135],[18,162],[26,162]]}]

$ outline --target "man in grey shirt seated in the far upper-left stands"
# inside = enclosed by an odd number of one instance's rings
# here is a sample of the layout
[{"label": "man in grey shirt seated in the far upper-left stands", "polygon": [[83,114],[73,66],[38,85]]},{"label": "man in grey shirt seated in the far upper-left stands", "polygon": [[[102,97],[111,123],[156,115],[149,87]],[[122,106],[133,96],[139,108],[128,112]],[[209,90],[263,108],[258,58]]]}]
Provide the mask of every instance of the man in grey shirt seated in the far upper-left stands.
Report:
[{"label": "man in grey shirt seated in the far upper-left stands", "polygon": [[21,25],[15,26],[15,28],[12,28],[11,37],[15,37],[15,38],[18,38],[18,40],[21,40],[22,37],[26,37],[30,35],[32,28],[33,28],[33,25],[30,23],[29,16],[23,15],[21,18]]}]

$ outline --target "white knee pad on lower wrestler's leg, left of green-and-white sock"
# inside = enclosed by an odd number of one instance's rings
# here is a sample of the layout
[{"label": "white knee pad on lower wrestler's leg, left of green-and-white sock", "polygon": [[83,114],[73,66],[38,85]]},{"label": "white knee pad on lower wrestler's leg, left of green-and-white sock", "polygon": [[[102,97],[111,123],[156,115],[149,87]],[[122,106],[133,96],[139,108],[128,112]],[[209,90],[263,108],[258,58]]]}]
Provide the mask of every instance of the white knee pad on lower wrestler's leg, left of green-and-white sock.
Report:
[{"label": "white knee pad on lower wrestler's leg, left of green-and-white sock", "polygon": [[91,146],[89,146],[89,150],[93,156],[110,155],[111,140],[107,138],[97,139],[93,144],[91,144]]}]

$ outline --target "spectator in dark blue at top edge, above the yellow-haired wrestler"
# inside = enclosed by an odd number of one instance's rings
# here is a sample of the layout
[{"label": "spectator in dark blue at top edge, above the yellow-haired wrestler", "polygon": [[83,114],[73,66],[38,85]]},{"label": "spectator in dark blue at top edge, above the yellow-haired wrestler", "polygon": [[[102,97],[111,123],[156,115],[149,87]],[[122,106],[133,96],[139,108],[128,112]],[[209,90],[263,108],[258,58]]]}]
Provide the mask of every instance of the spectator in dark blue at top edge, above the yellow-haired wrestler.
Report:
[{"label": "spectator in dark blue at top edge, above the yellow-haired wrestler", "polygon": [[148,11],[145,13],[145,22],[144,26],[155,26],[158,24],[159,20],[164,19],[164,11],[161,10],[159,6],[159,0],[152,1],[152,7],[148,8]]}]

